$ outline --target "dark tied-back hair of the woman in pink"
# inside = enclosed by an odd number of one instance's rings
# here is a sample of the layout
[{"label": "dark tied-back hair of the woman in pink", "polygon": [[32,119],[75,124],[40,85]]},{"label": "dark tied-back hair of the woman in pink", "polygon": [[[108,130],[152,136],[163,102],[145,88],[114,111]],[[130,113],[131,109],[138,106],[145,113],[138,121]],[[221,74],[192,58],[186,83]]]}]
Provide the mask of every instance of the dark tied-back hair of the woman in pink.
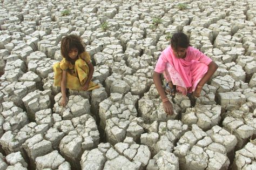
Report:
[{"label": "dark tied-back hair of the woman in pink", "polygon": [[183,32],[177,32],[172,35],[171,46],[174,50],[177,50],[178,47],[187,48],[190,46],[190,39]]}]

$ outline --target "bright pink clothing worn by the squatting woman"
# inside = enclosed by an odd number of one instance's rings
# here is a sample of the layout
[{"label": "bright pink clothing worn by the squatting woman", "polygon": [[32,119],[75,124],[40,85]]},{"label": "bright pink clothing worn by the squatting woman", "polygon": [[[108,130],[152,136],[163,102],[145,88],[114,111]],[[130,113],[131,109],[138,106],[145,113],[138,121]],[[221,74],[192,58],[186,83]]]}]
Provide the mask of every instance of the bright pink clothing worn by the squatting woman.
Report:
[{"label": "bright pink clothing worn by the squatting woman", "polygon": [[169,46],[161,53],[154,71],[164,73],[166,81],[172,81],[176,90],[186,95],[196,90],[211,62],[211,58],[191,46],[184,59],[177,58]]}]

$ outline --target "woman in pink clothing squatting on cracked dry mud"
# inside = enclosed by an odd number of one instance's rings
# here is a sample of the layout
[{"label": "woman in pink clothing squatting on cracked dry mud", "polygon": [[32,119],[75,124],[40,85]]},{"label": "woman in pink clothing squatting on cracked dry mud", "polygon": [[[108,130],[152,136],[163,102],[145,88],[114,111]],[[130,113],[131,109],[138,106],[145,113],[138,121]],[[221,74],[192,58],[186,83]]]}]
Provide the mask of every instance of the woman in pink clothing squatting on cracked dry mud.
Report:
[{"label": "woman in pink clothing squatting on cracked dry mud", "polygon": [[153,73],[153,81],[163,101],[167,114],[173,114],[172,104],[161,85],[160,74],[166,81],[166,93],[174,96],[176,91],[186,95],[200,97],[204,84],[218,69],[211,58],[190,46],[188,37],[182,33],[174,33],[171,45],[160,55]]}]

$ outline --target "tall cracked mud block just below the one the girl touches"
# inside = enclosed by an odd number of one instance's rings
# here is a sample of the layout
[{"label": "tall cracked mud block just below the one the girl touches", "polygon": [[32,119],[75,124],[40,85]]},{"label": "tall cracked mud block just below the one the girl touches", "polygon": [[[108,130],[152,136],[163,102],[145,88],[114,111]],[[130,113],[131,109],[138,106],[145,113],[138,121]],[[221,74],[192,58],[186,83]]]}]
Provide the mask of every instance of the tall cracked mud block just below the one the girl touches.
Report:
[{"label": "tall cracked mud block just below the one the girl touches", "polygon": [[[48,131],[46,138],[54,141],[55,145],[60,141],[60,153],[70,162],[71,166],[80,168],[79,161],[83,152],[96,148],[99,143],[96,121],[89,114],[83,114],[71,120],[62,120],[58,117],[56,114],[53,116],[56,123],[51,132]],[[63,134],[60,132],[64,132],[65,137],[62,138]],[[51,134],[55,134],[55,138],[52,138]]]}]

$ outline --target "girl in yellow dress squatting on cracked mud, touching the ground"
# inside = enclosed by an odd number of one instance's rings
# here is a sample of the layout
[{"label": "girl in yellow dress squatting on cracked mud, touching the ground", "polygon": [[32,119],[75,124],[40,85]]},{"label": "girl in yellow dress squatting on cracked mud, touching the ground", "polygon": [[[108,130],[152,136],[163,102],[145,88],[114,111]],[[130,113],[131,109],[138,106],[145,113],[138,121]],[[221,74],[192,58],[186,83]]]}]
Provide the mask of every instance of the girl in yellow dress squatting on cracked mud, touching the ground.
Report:
[{"label": "girl in yellow dress squatting on cracked mud, touching the ground", "polygon": [[80,37],[76,35],[64,37],[60,44],[60,52],[63,59],[53,65],[54,85],[61,87],[60,105],[65,107],[66,88],[89,91],[99,88],[99,85],[91,81],[94,67]]}]

